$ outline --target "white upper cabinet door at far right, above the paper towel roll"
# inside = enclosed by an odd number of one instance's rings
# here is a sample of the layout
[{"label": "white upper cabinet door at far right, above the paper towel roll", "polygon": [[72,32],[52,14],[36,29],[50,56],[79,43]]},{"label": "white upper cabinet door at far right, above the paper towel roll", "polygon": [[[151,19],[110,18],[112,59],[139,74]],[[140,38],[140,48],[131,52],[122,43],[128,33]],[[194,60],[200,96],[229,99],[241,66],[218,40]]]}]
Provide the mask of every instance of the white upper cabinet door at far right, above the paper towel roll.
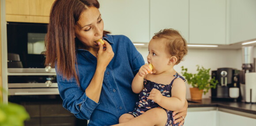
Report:
[{"label": "white upper cabinet door at far right, above the paper towel roll", "polygon": [[230,43],[256,38],[256,0],[230,0]]}]

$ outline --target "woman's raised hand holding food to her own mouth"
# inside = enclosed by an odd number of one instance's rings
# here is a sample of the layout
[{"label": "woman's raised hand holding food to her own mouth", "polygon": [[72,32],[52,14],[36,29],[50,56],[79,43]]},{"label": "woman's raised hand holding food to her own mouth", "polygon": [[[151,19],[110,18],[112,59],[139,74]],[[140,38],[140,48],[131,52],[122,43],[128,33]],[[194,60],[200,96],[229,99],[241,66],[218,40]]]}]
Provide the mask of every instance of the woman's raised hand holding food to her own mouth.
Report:
[{"label": "woman's raised hand holding food to her own mouth", "polygon": [[110,61],[113,59],[114,52],[112,50],[111,45],[107,41],[103,41],[105,42],[105,48],[103,48],[103,45],[100,42],[98,42],[99,51],[97,56],[97,66],[106,68],[109,65]]}]

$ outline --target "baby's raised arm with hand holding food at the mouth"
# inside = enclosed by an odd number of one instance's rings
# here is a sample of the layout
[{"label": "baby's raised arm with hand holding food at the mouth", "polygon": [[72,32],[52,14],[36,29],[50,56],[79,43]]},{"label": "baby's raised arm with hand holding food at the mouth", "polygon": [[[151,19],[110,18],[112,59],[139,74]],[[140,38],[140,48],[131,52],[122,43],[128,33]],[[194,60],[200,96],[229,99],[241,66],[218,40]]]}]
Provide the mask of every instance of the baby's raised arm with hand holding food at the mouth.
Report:
[{"label": "baby's raised arm with hand holding food at the mouth", "polygon": [[144,88],[143,80],[145,75],[148,74],[149,70],[150,68],[147,63],[140,67],[139,72],[136,74],[136,76],[133,78],[133,81],[132,81],[132,91],[134,93],[140,93],[141,90]]}]

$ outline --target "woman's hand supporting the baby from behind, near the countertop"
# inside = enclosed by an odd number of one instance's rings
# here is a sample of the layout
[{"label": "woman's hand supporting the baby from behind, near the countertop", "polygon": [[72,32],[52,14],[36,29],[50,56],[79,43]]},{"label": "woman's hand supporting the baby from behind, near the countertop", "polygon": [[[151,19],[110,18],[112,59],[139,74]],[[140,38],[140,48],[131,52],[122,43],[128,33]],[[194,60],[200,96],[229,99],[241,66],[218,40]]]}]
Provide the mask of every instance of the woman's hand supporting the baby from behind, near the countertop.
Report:
[{"label": "woman's hand supporting the baby from behind, near the countertop", "polygon": [[187,116],[188,101],[186,100],[184,107],[181,110],[173,111],[174,124],[179,123],[179,126],[184,126],[184,119]]}]

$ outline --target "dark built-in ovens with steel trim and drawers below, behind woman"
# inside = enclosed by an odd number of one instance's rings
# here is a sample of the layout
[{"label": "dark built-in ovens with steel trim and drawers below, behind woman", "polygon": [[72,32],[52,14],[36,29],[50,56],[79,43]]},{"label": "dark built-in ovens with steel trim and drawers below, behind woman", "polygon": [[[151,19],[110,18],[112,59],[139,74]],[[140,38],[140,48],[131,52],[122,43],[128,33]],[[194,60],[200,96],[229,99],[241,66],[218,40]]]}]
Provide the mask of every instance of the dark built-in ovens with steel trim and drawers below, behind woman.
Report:
[{"label": "dark built-in ovens with steel trim and drawers below, behind woman", "polygon": [[87,126],[62,107],[56,71],[45,66],[47,24],[7,23],[8,101],[26,108],[25,126]]}]

